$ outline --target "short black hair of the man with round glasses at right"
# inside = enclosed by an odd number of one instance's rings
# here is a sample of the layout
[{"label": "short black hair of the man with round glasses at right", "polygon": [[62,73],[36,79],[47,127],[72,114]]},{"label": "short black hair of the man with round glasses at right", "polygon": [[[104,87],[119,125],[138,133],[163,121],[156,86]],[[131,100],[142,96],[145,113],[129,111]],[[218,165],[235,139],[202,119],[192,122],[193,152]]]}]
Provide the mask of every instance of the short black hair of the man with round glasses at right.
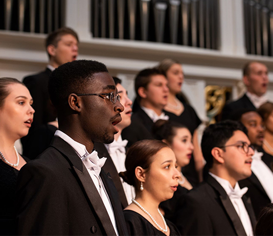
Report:
[{"label": "short black hair of the man with round glasses at right", "polygon": [[211,151],[215,147],[223,147],[233,136],[234,132],[240,130],[247,135],[246,128],[237,121],[222,121],[207,127],[202,136],[201,149],[204,159],[207,161],[206,170],[213,166],[213,156]]}]

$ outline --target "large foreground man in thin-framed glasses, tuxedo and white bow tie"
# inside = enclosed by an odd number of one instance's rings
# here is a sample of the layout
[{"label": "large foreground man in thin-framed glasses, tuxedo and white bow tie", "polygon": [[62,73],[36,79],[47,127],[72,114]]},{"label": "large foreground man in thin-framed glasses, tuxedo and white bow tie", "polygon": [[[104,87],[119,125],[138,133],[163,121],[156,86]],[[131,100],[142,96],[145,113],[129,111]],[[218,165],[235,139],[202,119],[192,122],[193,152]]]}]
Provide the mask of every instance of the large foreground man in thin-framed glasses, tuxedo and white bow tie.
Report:
[{"label": "large foreground man in thin-framed glasses, tuxedo and white bow tie", "polygon": [[59,128],[18,175],[18,234],[127,235],[118,192],[102,169],[106,158],[94,150],[119,131],[124,107],[115,82],[104,64],[78,60],[52,72],[49,94]]}]

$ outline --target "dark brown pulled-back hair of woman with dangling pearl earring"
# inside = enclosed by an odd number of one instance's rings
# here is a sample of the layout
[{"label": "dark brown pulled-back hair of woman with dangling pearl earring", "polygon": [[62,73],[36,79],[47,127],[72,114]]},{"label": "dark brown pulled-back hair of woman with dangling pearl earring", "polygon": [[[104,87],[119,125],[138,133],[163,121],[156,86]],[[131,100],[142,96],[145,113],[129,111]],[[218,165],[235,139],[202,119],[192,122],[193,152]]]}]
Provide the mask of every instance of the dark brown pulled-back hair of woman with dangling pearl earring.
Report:
[{"label": "dark brown pulled-back hair of woman with dangling pearl earring", "polygon": [[137,192],[140,183],[134,174],[135,168],[142,167],[146,172],[149,171],[154,155],[163,148],[169,148],[169,146],[160,140],[147,139],[134,143],[128,149],[126,155],[126,171],[119,173],[120,177],[122,177],[126,183],[133,185]]}]

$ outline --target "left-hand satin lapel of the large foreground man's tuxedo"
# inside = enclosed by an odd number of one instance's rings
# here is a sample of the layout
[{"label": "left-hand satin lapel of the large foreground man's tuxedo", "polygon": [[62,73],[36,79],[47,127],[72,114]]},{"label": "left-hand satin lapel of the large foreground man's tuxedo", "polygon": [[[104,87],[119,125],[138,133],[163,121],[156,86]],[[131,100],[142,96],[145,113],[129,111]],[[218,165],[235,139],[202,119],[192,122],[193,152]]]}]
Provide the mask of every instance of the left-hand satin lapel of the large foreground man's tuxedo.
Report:
[{"label": "left-hand satin lapel of the large foreground man's tuxedo", "polygon": [[[99,195],[97,188],[85,168],[80,157],[75,153],[74,149],[59,137],[54,137],[51,146],[61,152],[72,163],[73,170],[76,172],[79,180],[84,188],[84,191],[94,207],[97,216],[99,217],[103,228],[107,235],[116,235],[115,229],[111,223],[104,203]],[[114,207],[113,207],[114,208]]]}]

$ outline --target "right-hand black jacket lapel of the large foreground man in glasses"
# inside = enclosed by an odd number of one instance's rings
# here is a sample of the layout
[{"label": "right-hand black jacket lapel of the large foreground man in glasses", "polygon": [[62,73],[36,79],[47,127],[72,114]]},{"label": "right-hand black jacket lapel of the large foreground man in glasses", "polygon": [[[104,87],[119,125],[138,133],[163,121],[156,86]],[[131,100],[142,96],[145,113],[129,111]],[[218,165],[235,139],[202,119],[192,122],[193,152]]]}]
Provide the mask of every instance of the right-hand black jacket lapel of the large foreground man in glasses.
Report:
[{"label": "right-hand black jacket lapel of the large foreground man in glasses", "polygon": [[112,208],[115,214],[116,223],[119,231],[119,235],[127,235],[127,229],[125,227],[125,219],[121,207],[121,202],[119,200],[119,195],[115,185],[113,184],[112,178],[110,174],[105,174],[104,170],[101,170],[100,177],[104,183],[107,194],[110,198],[110,202],[112,203]]}]

